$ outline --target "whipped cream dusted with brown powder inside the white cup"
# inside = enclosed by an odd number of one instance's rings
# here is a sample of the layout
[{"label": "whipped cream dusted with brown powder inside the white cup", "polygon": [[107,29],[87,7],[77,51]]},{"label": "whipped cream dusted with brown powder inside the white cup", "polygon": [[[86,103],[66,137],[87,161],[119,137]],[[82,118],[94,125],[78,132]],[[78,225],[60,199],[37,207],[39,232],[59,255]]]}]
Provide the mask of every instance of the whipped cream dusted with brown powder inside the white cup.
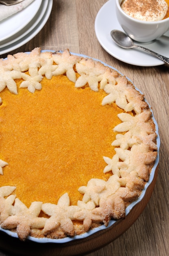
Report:
[{"label": "whipped cream dusted with brown powder inside the white cup", "polygon": [[165,17],[168,5],[165,0],[123,0],[121,8],[137,20],[158,21]]}]

